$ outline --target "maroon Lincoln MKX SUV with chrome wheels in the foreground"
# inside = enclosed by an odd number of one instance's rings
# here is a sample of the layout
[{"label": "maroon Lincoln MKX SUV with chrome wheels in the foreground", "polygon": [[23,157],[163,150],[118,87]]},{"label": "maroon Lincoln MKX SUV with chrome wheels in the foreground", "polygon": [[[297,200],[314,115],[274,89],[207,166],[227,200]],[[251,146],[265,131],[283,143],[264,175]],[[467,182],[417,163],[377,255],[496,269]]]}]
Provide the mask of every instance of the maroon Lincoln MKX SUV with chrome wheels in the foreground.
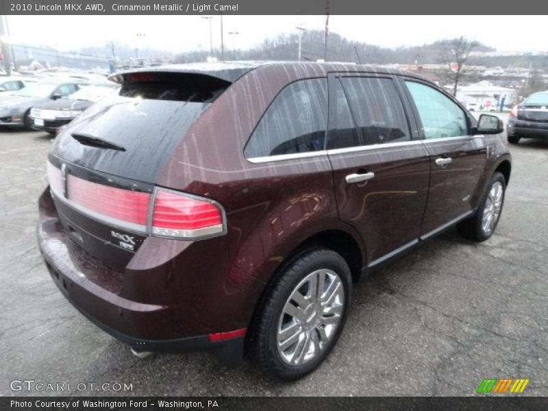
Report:
[{"label": "maroon Lincoln MKX SUV with chrome wheels in the foreground", "polygon": [[318,366],[352,283],[456,225],[489,238],[510,178],[496,117],[353,64],[116,75],[48,160],[38,242],[73,305],[134,351]]}]

